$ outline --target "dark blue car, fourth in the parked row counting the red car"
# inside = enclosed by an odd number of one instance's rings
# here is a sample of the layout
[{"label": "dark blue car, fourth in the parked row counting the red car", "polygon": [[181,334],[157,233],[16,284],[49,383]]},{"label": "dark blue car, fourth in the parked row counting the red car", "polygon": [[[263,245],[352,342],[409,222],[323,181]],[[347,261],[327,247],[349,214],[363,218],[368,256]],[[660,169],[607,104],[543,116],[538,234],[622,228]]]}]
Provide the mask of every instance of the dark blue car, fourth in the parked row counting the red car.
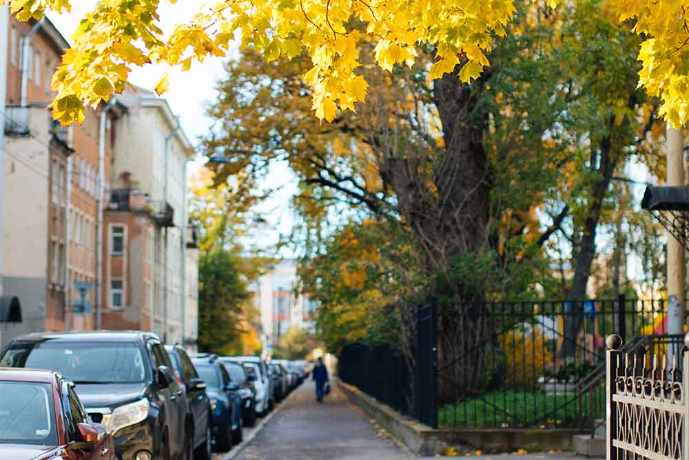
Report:
[{"label": "dark blue car, fourth in the parked row counting the red car", "polygon": [[242,397],[239,386],[229,377],[229,372],[216,355],[197,357],[192,360],[196,371],[206,382],[211,399],[211,426],[213,443],[217,452],[227,452],[243,440]]}]

